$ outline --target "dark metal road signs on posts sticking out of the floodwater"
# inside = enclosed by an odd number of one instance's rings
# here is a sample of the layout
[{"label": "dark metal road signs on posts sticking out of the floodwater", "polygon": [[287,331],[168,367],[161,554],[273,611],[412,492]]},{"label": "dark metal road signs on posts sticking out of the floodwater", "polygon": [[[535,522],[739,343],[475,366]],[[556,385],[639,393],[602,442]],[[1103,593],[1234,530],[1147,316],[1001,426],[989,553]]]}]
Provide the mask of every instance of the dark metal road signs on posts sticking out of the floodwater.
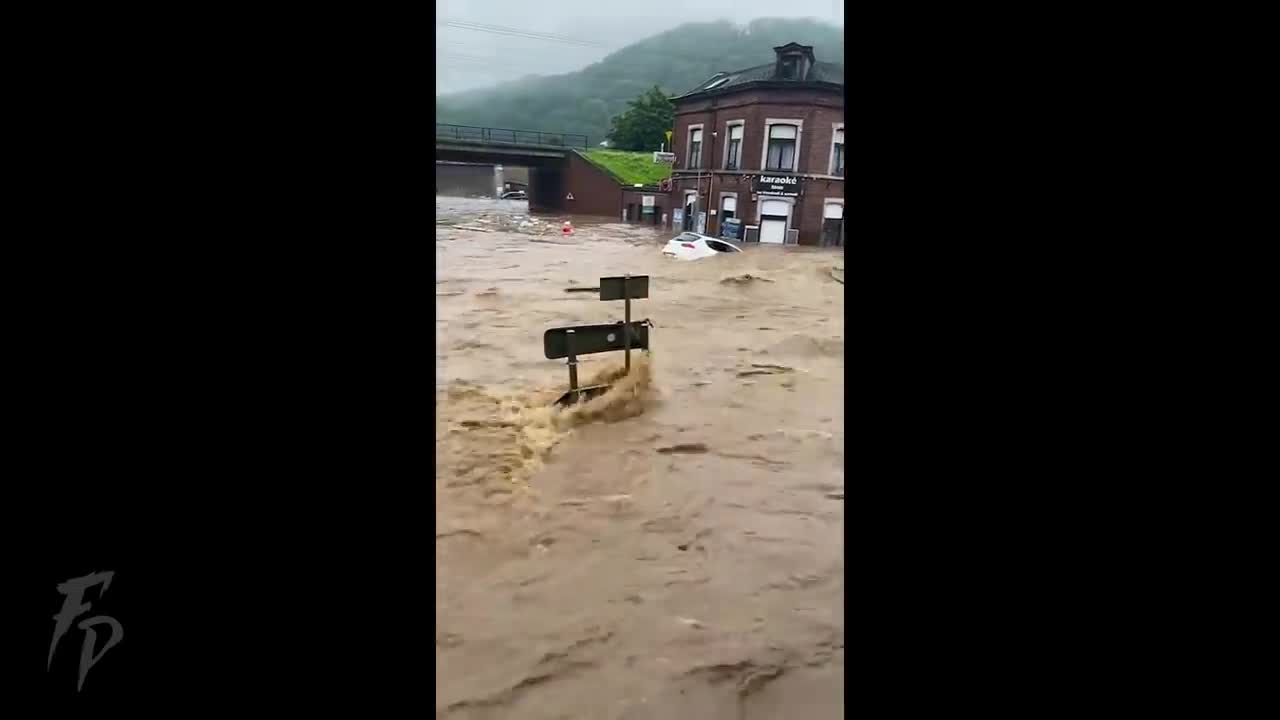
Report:
[{"label": "dark metal road signs on posts sticking out of the floodwater", "polygon": [[625,352],[625,370],[631,372],[631,348],[649,350],[649,328],[653,322],[631,322],[631,301],[649,297],[649,275],[622,275],[600,278],[600,300],[622,300],[623,320],[604,325],[575,325],[552,328],[543,333],[543,355],[548,360],[568,359],[568,392],[559,396],[557,405],[572,405],[580,398],[594,397],[609,388],[605,384],[577,386],[577,356],[595,352]]}]

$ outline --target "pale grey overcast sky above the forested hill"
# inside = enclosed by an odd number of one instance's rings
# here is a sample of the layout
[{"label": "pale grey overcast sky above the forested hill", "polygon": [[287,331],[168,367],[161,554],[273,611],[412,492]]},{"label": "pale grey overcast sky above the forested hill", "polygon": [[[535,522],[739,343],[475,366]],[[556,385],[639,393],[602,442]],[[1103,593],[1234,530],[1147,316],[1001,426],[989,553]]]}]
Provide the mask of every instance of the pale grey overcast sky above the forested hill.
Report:
[{"label": "pale grey overcast sky above the forested hill", "polygon": [[[841,0],[700,0],[649,5],[608,0],[436,0],[435,92],[485,87],[525,74],[577,70],[620,47],[684,23],[727,19],[745,24],[755,18],[781,17],[842,26],[844,14]],[[513,36],[511,31],[558,37],[539,40]]]}]

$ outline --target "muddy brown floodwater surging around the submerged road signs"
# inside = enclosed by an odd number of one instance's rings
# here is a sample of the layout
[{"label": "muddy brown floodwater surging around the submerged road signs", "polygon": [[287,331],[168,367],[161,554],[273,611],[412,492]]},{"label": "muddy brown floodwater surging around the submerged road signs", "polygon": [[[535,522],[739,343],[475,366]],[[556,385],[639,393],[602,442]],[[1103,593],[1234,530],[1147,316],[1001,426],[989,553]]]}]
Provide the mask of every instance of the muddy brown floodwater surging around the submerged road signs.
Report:
[{"label": "muddy brown floodwater surging around the submerged road signs", "polygon": [[[436,717],[844,716],[844,252],[524,211],[436,199]],[[543,332],[625,273],[652,355],[553,410]]]}]

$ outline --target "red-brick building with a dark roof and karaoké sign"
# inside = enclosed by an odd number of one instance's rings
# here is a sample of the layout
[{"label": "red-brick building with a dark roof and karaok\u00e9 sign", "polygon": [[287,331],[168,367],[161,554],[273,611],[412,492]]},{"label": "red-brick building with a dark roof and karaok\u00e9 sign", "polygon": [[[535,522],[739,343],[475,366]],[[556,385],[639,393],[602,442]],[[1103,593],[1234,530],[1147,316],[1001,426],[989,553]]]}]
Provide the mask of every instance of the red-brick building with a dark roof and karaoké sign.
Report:
[{"label": "red-brick building with a dark roof and karaok\u00e9 sign", "polygon": [[[842,245],[845,72],[795,42],[767,65],[716,73],[672,97],[672,229]],[[682,214],[680,222],[676,215]]]}]

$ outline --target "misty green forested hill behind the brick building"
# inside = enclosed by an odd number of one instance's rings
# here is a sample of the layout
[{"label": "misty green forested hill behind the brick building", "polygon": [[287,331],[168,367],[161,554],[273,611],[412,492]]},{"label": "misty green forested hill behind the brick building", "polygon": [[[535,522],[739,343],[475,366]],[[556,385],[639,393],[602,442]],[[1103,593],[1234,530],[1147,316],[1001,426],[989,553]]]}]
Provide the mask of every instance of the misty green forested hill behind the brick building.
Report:
[{"label": "misty green forested hill behind the brick building", "polygon": [[[658,85],[685,92],[721,70],[773,61],[773,47],[813,45],[818,60],[844,64],[844,28],[818,20],[762,18],[746,27],[690,23],[628,45],[579,72],[525,77],[492,88],[443,95],[435,122],[465,126],[577,132],[595,145],[627,101]],[[520,74],[520,58],[509,58]]]}]

